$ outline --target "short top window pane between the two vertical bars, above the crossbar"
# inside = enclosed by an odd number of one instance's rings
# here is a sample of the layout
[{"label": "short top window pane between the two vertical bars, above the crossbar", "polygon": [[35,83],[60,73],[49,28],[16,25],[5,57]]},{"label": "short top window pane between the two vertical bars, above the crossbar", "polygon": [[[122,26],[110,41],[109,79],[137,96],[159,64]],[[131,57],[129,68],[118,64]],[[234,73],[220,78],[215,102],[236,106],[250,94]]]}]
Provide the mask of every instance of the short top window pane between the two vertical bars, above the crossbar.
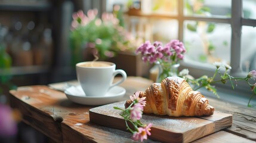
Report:
[{"label": "short top window pane between the two vertical bars, above the crossbar", "polygon": [[231,15],[231,0],[185,0],[184,15],[200,15],[203,17]]}]

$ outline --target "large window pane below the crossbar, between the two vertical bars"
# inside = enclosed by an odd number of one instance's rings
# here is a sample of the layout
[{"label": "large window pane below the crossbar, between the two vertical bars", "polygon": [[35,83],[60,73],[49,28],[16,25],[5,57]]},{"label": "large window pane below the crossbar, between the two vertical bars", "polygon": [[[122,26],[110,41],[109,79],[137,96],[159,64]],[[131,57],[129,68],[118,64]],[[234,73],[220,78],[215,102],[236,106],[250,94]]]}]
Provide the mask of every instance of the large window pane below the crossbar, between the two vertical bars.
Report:
[{"label": "large window pane below the crossbar, between the two vertical bars", "polygon": [[201,63],[215,61],[230,64],[230,24],[205,21],[184,22],[186,59]]}]

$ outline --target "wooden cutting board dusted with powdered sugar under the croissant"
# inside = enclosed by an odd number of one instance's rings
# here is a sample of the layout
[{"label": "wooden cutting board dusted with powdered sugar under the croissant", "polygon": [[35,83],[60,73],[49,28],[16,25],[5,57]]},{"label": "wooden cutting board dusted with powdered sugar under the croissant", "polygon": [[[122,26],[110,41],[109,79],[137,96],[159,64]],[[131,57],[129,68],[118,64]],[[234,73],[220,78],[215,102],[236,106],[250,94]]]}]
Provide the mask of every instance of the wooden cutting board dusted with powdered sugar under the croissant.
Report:
[{"label": "wooden cutting board dusted with powdered sugar under the croissant", "polygon": [[[90,122],[128,132],[121,111],[125,101],[90,109]],[[142,123],[152,123],[150,139],[161,142],[192,142],[198,138],[232,126],[232,114],[215,111],[212,116],[169,117],[143,114]]]}]

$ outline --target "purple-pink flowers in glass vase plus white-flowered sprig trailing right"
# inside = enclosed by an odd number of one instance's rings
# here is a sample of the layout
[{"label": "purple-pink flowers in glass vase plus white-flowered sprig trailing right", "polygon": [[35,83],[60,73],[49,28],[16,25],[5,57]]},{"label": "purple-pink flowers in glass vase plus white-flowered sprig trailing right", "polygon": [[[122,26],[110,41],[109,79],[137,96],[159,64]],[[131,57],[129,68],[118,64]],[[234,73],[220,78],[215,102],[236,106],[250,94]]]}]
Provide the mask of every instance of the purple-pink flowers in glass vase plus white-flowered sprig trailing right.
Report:
[{"label": "purple-pink flowers in glass vase plus white-flowered sprig trailing right", "polygon": [[[235,89],[233,81],[237,82],[238,80],[245,80],[246,83],[249,85],[251,90],[253,91],[253,94],[249,98],[248,106],[251,106],[249,103],[251,99],[256,95],[256,83],[251,84],[249,82],[250,79],[255,80],[256,79],[256,71],[252,70],[250,71],[246,77],[233,77],[229,74],[229,70],[232,69],[227,64],[221,64],[215,62],[215,73],[212,77],[208,77],[206,75],[203,75],[199,77],[198,79],[193,78],[192,76],[189,76],[189,70],[183,69],[181,71],[178,71],[178,69],[174,68],[174,65],[179,65],[180,60],[183,60],[184,53],[186,52],[186,49],[184,48],[184,45],[182,42],[178,40],[172,40],[169,43],[167,43],[165,46],[162,46],[161,42],[155,41],[153,44],[149,41],[146,41],[141,46],[139,46],[136,50],[137,54],[141,54],[142,60],[144,62],[149,63],[156,63],[159,64],[159,76],[158,80],[156,82],[161,82],[163,79],[165,79],[168,76],[179,76],[183,77],[185,80],[187,80],[188,83],[193,87],[193,90],[196,91],[200,88],[206,88],[208,91],[213,92],[215,95],[217,95],[217,89],[212,84],[221,82],[226,83],[228,80],[232,84],[232,88]],[[177,66],[176,66],[177,67]],[[224,68],[224,73],[221,73],[221,69]],[[220,77],[220,79],[216,79],[217,76]],[[237,86],[237,83],[236,83]]]}]

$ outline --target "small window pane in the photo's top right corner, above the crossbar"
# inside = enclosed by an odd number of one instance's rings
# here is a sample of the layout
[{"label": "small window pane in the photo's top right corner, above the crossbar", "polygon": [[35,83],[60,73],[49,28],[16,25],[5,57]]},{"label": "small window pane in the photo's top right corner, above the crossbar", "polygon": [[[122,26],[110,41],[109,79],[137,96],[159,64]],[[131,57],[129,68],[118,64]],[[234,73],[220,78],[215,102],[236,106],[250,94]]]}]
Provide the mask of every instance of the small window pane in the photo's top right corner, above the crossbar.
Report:
[{"label": "small window pane in the photo's top right corner, above the crossbar", "polygon": [[243,0],[243,17],[256,19],[256,1]]}]

